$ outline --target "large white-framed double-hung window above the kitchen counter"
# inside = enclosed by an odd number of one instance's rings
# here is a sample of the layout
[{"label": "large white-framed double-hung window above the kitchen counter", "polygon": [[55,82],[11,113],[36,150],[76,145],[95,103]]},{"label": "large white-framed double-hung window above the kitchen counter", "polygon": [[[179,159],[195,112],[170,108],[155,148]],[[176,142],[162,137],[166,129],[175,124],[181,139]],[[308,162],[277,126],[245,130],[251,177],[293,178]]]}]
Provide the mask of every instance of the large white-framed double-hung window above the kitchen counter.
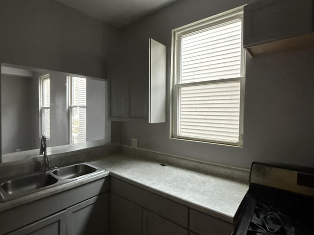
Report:
[{"label": "large white-framed double-hung window above the kitchen counter", "polygon": [[243,7],[173,30],[171,137],[242,145]]}]

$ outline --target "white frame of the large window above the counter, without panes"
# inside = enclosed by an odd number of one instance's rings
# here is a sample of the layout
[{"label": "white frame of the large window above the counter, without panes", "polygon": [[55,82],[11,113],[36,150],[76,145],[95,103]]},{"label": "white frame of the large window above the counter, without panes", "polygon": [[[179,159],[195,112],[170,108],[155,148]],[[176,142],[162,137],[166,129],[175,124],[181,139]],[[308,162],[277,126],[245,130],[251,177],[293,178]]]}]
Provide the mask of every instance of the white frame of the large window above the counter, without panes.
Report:
[{"label": "white frame of the large window above the counter, without panes", "polygon": [[[236,19],[242,21],[242,37],[241,45],[243,45],[243,7],[240,6],[235,9],[220,13],[218,15],[194,22],[192,24],[187,24],[182,27],[172,30],[172,45],[171,45],[171,101],[170,101],[170,139],[179,139],[185,141],[198,141],[205,143],[213,144],[224,144],[230,146],[243,146],[243,122],[244,122],[244,91],[245,91],[245,59],[246,53],[241,47],[241,68],[240,68],[240,77],[228,78],[228,79],[219,79],[219,80],[209,80],[209,81],[200,81],[200,82],[191,82],[191,83],[180,83],[181,80],[181,39],[183,36],[189,34],[194,34],[205,30],[209,27],[214,27],[215,25],[227,23]],[[240,82],[240,113],[239,113],[239,138],[237,142],[232,141],[216,141],[216,140],[207,140],[202,138],[192,138],[179,135],[179,90],[181,87],[189,87],[196,85],[205,85],[210,83],[222,83],[230,81],[239,81]]]}]

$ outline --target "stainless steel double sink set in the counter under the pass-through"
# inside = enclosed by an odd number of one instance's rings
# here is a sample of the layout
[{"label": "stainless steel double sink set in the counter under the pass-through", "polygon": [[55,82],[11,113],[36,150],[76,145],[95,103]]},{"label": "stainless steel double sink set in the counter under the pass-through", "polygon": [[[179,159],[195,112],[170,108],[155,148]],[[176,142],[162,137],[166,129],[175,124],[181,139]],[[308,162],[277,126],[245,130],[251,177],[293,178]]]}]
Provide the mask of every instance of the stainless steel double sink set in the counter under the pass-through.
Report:
[{"label": "stainless steel double sink set in the counter under the pass-through", "polygon": [[9,201],[40,190],[82,180],[104,171],[100,167],[83,163],[11,177],[0,181],[0,201]]}]

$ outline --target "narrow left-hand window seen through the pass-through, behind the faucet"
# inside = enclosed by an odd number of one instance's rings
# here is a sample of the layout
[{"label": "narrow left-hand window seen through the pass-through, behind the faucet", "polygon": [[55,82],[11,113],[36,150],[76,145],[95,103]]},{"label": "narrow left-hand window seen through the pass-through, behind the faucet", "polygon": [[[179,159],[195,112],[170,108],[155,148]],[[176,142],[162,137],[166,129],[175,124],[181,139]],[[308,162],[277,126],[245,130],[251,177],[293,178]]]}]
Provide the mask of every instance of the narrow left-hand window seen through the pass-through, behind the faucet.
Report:
[{"label": "narrow left-hand window seen through the pass-through, behind the faucet", "polygon": [[41,134],[50,140],[50,74],[39,77]]}]

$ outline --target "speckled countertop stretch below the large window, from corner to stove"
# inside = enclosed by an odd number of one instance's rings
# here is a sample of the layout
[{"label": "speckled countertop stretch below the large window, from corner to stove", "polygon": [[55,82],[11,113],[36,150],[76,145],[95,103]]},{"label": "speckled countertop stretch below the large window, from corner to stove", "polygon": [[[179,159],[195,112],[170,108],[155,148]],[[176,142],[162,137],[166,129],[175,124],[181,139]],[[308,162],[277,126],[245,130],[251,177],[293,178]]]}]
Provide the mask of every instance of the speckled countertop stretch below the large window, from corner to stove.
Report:
[{"label": "speckled countertop stretch below the large window, from corner to stove", "polygon": [[109,170],[112,177],[154,192],[192,209],[233,223],[248,185],[174,165],[115,154],[95,164]]}]

